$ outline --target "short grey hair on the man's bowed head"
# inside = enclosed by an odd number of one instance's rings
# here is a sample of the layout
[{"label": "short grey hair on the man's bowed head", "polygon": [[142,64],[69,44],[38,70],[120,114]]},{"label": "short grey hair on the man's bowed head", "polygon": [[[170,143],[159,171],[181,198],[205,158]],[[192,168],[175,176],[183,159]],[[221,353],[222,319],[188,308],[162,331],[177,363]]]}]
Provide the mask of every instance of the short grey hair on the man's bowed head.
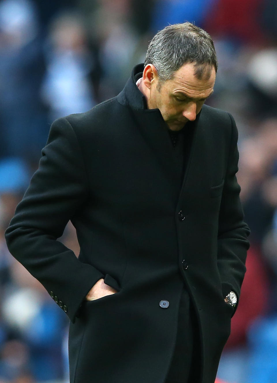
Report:
[{"label": "short grey hair on the man's bowed head", "polygon": [[213,40],[204,29],[192,23],[169,25],[150,41],[144,66],[153,64],[162,81],[172,79],[182,65],[195,63],[201,78],[205,67],[218,68]]}]

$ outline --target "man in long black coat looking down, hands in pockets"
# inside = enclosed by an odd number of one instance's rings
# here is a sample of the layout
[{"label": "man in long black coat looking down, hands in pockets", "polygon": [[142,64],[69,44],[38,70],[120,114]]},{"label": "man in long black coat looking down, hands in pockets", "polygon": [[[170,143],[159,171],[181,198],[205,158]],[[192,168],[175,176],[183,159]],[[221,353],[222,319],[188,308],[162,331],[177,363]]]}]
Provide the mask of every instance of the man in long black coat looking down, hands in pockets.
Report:
[{"label": "man in long black coat looking down, hands in pockets", "polygon": [[249,247],[216,69],[208,33],[168,26],[117,97],[52,124],[6,239],[70,318],[70,383],[215,381]]}]

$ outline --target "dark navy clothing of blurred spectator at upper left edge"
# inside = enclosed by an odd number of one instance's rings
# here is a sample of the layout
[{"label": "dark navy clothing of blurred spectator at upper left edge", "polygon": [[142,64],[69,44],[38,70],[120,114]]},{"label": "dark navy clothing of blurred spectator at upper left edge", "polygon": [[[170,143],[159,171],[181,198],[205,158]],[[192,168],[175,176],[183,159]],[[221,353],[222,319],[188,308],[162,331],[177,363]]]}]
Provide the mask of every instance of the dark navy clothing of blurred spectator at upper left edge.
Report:
[{"label": "dark navy clothing of blurred spectator at upper left edge", "polygon": [[40,158],[50,127],[40,100],[43,74],[39,38],[0,48],[0,157]]}]

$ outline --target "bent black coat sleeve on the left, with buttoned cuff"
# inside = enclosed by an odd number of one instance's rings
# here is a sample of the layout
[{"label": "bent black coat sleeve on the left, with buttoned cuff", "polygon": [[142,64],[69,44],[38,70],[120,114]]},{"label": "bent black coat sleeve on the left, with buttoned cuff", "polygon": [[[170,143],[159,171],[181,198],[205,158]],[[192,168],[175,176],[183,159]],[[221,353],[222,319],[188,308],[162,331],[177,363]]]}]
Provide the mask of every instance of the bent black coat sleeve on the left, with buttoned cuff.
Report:
[{"label": "bent black coat sleeve on the left, with buttoned cuff", "polygon": [[5,237],[11,254],[42,283],[72,322],[85,295],[104,278],[57,241],[87,197],[88,179],[77,137],[67,119],[57,119]]}]

